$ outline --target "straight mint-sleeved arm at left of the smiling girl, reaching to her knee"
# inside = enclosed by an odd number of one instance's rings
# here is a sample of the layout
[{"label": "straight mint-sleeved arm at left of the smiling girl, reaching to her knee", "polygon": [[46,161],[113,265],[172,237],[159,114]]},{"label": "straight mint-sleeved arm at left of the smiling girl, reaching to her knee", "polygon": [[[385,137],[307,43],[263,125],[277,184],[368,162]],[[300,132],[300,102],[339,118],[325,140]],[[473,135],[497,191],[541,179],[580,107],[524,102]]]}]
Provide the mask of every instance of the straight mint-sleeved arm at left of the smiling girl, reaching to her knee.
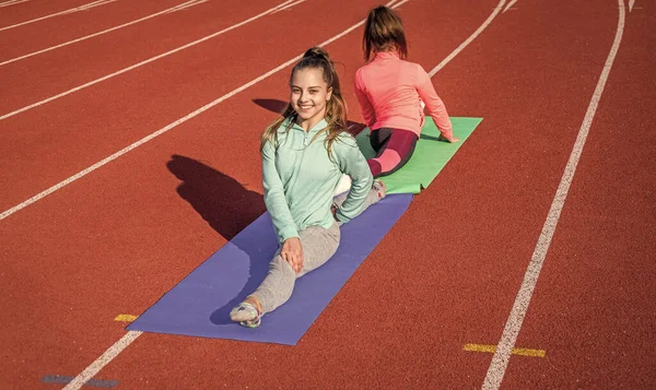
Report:
[{"label": "straight mint-sleeved arm at left of the smiling girl, reaching to her knee", "polygon": [[279,241],[284,243],[288,238],[298,237],[296,224],[286,204],[282,180],[276,168],[276,151],[271,142],[267,142],[262,149],[262,181],[265,204],[271,215]]}]

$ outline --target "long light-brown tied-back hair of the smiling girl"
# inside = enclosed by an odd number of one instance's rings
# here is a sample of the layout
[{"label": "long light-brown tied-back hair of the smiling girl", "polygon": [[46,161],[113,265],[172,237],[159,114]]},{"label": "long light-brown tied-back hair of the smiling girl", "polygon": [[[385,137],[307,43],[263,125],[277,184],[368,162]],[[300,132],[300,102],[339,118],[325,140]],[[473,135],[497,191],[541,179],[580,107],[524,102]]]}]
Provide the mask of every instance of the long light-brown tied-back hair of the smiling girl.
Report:
[{"label": "long light-brown tied-back hair of the smiling girl", "polygon": [[[313,137],[314,142],[319,134],[326,132],[326,150],[328,156],[332,159],[332,143],[339,138],[339,134],[347,130],[347,104],[342,97],[341,88],[339,85],[339,76],[335,70],[335,64],[328,52],[320,47],[313,47],[305,51],[303,58],[292,69],[292,76],[294,72],[303,69],[319,69],[324,75],[324,81],[328,84],[328,88],[332,88],[331,98],[326,102],[326,122],[328,126]],[[290,78],[291,82],[291,78]],[[294,122],[296,121],[298,114],[294,111],[291,103],[288,103],[285,109],[281,113],[267,130],[261,138],[260,151],[263,150],[267,142],[271,142],[273,147],[278,146],[278,130],[280,126],[289,119],[285,132],[289,132]]]}]

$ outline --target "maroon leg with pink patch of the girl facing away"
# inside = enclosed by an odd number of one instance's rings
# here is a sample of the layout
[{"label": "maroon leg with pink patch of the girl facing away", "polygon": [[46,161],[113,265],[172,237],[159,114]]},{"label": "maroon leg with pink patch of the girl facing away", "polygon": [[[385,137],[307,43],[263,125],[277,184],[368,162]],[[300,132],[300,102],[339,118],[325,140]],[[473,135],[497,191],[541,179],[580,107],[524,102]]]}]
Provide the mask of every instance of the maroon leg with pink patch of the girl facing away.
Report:
[{"label": "maroon leg with pink patch of the girl facing away", "polygon": [[376,157],[367,159],[372,175],[382,177],[394,174],[410,161],[415,146],[414,132],[395,129]]}]

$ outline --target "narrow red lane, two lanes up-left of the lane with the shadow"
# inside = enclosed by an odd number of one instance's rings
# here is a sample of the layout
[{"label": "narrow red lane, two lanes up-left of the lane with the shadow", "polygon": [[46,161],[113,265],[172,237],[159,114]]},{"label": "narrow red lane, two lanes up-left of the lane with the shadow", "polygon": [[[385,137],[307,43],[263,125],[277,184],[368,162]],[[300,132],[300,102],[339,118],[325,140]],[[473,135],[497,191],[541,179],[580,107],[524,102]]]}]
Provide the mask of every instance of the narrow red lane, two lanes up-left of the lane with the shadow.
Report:
[{"label": "narrow red lane, two lanes up-left of the lane with the shadow", "polygon": [[220,32],[283,1],[206,2],[0,67],[0,78],[8,80],[0,117]]}]

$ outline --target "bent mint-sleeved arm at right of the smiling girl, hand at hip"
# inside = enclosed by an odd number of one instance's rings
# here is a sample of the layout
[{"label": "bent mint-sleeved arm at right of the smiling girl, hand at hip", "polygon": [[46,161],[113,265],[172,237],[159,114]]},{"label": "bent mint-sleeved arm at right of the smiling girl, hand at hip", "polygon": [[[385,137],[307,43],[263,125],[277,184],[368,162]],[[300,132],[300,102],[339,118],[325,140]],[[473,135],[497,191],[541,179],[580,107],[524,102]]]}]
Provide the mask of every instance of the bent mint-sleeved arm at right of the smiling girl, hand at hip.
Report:
[{"label": "bent mint-sleeved arm at right of the smiling girl, hand at hip", "polygon": [[347,199],[335,213],[337,220],[345,223],[363,211],[362,208],[374,182],[374,177],[353,137],[350,134],[341,135],[332,147],[340,170],[349,175],[352,180]]}]

